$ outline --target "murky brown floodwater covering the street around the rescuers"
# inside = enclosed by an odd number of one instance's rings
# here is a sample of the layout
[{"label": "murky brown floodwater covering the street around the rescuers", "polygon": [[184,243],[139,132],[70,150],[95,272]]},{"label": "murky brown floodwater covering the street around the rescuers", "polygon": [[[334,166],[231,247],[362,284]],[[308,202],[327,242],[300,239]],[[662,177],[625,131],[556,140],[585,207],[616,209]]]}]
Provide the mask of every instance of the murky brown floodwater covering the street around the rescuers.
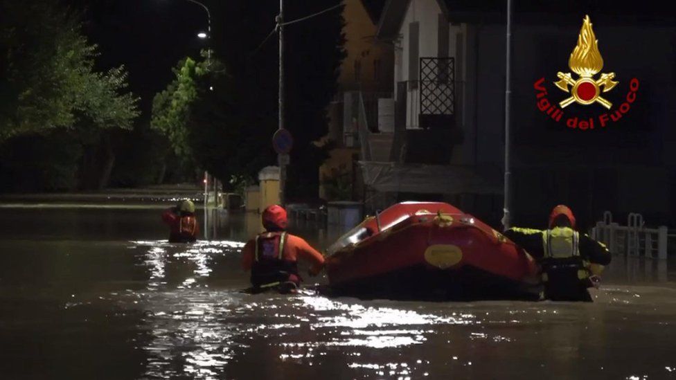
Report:
[{"label": "murky brown floodwater covering the street around the rescuers", "polygon": [[[614,257],[593,304],[252,296],[239,259],[257,217],[181,245],[160,211],[0,208],[1,378],[676,376],[664,262]],[[322,247],[341,232],[294,230]]]}]

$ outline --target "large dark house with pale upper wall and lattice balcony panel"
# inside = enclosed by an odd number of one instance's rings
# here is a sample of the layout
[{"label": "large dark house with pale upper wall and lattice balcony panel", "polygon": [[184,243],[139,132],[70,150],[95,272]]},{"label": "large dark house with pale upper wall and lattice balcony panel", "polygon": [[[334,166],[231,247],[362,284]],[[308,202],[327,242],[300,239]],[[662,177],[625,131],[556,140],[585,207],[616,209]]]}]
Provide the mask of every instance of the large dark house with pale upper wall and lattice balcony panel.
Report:
[{"label": "large dark house with pale upper wall and lattice balcony panel", "polygon": [[[669,106],[676,101],[673,12],[664,4],[636,8],[628,1],[513,3],[510,136],[517,213],[542,219],[554,204],[568,203],[587,222],[603,210],[668,217],[676,206],[676,129],[668,127],[676,114]],[[387,1],[377,39],[395,51],[395,133],[391,162],[362,165],[374,190],[422,192],[431,199],[441,194],[477,214],[501,215],[505,8],[506,1]],[[537,109],[533,83],[546,78],[550,91],[559,91],[556,73],[570,71],[568,58],[587,13],[604,71],[620,81],[608,99],[617,107],[630,79],[639,78],[641,100],[613,128],[580,132]],[[562,95],[551,94],[557,101]],[[573,105],[564,113],[601,111]],[[646,188],[650,195],[638,197]]]}]

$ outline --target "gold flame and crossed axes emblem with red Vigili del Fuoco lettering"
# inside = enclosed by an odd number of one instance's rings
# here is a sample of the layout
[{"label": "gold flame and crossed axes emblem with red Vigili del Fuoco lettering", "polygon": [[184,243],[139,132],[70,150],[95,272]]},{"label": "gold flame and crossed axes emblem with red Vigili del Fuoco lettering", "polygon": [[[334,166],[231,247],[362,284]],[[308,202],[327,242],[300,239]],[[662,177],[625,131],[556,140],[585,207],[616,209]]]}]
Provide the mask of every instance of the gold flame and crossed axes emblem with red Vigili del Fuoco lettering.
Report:
[{"label": "gold flame and crossed axes emblem with red Vigili del Fuoco lettering", "polygon": [[[594,30],[591,29],[589,16],[585,16],[584,21],[582,21],[578,44],[573,49],[573,53],[571,53],[568,66],[577,75],[561,72],[556,74],[559,80],[553,83],[563,93],[552,93],[551,97],[557,100],[558,98],[562,98],[558,104],[551,102],[547,98],[550,94],[546,87],[544,87],[544,78],[540,78],[533,85],[536,91],[537,109],[540,109],[543,114],[548,115],[557,123],[563,120],[567,127],[571,129],[584,131],[587,129],[605,128],[610,123],[618,122],[623,115],[630,111],[632,103],[636,101],[639,80],[632,78],[629,81],[627,96],[619,107],[613,109],[612,102],[603,98],[603,93],[614,89],[619,81],[614,80],[615,73],[601,73],[598,78],[594,78],[603,69],[603,57],[601,57],[601,52],[598,51],[598,39],[594,35]],[[563,96],[560,97],[560,95]],[[583,119],[575,115],[564,117],[566,116],[564,109],[573,103],[586,107],[601,106],[607,109],[607,111],[603,111],[597,116],[590,118],[585,116]]]}]

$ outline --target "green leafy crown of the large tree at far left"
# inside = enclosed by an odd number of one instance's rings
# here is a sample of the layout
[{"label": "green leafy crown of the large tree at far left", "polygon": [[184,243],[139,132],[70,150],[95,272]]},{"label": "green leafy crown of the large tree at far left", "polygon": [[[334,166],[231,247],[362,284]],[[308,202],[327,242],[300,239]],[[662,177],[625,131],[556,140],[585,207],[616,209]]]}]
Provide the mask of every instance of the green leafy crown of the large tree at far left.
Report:
[{"label": "green leafy crown of the large tree at far left", "polygon": [[[0,141],[57,127],[130,128],[138,101],[122,66],[94,70],[97,46],[55,1],[0,0]],[[5,101],[6,100],[6,101]]]}]

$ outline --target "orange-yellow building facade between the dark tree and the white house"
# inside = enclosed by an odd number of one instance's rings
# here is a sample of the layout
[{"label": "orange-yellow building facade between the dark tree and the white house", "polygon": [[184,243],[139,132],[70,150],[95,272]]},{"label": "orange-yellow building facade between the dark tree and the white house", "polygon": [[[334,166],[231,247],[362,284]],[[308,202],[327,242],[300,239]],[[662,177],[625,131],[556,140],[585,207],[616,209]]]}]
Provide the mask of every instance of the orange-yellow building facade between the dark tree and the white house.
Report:
[{"label": "orange-yellow building facade between the dark tree and the white house", "polygon": [[357,94],[366,99],[368,127],[377,130],[377,100],[391,98],[393,50],[375,39],[384,0],[345,0],[346,58],[340,66],[338,93],[328,109],[329,133],[321,143],[335,147],[319,168],[319,197],[328,201],[363,197],[359,161]]}]

